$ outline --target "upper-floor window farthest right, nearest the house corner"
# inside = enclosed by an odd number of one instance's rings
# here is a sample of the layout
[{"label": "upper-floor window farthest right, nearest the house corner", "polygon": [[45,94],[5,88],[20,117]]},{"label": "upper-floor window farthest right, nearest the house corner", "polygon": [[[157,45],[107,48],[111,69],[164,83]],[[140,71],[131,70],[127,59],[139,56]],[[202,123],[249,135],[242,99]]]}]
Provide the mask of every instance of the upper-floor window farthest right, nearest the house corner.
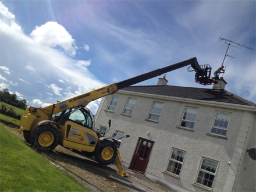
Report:
[{"label": "upper-floor window farthest right, nearest the house corner", "polygon": [[226,136],[227,125],[229,124],[230,115],[224,113],[217,113],[211,133],[220,136]]}]

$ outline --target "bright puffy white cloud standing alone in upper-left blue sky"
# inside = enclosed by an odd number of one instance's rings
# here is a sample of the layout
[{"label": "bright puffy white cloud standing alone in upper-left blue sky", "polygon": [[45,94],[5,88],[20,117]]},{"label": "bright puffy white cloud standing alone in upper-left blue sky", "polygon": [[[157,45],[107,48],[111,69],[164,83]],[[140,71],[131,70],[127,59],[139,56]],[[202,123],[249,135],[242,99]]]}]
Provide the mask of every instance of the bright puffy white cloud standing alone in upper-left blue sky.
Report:
[{"label": "bright puffy white cloud standing alone in upper-left blue sky", "polygon": [[76,45],[72,35],[66,29],[56,22],[47,22],[40,27],[36,26],[30,34],[35,42],[44,47],[61,46],[64,51],[73,56],[76,55]]}]

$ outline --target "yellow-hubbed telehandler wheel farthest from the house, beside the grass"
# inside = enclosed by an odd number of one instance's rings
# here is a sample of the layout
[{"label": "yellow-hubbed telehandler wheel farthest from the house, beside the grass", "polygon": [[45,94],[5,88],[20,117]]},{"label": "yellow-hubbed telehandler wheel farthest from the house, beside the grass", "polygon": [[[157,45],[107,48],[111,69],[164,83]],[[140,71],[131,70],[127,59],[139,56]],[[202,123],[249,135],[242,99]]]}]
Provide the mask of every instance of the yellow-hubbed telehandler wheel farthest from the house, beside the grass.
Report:
[{"label": "yellow-hubbed telehandler wheel farthest from the house, beside the grass", "polygon": [[59,131],[54,126],[39,126],[31,134],[31,146],[40,151],[52,151],[58,144]]}]

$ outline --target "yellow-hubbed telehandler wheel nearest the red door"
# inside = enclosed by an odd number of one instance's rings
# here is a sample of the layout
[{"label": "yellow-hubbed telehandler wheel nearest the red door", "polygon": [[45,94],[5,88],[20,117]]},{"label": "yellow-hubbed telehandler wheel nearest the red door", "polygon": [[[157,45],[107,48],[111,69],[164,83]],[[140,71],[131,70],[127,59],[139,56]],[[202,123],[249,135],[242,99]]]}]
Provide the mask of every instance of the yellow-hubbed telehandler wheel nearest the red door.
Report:
[{"label": "yellow-hubbed telehandler wheel nearest the red door", "polygon": [[104,140],[101,141],[94,151],[94,157],[96,161],[101,165],[109,165],[113,163],[118,154],[118,148],[112,141]]}]

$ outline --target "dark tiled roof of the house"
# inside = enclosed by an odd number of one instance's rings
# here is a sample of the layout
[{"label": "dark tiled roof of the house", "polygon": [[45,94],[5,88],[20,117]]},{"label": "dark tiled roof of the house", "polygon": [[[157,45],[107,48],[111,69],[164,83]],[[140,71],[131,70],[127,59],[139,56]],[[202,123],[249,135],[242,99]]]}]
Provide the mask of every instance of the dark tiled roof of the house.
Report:
[{"label": "dark tiled roof of the house", "polygon": [[170,97],[198,99],[203,101],[225,102],[228,104],[256,106],[256,104],[253,102],[247,101],[246,99],[243,99],[226,90],[180,86],[130,86],[120,90],[165,95]]}]

